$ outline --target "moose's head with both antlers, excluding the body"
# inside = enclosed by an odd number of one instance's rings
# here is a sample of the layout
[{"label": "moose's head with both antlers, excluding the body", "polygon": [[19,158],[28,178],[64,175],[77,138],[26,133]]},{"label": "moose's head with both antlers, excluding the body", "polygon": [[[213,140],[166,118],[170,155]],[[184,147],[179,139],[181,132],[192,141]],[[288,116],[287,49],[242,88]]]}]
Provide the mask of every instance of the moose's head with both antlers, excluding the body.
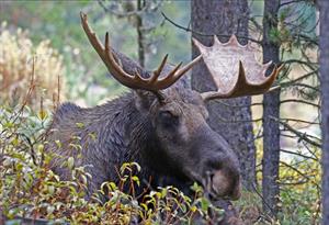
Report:
[{"label": "moose's head with both antlers, excluding the body", "polygon": [[[144,147],[138,147],[139,153],[131,155],[138,154],[136,158],[157,175],[197,181],[214,196],[238,199],[241,179],[237,156],[207,124],[205,103],[214,99],[263,93],[275,80],[280,68],[274,67],[266,77],[271,61],[259,64],[250,44],[241,46],[236,36],[220,43],[215,36],[211,47],[193,40],[201,55],[188,65],[169,66],[167,55],[155,71],[148,72],[112,49],[109,33],[103,46],[83,13],[81,22],[110,74],[134,90],[134,106],[138,115],[132,123],[138,121],[139,125],[126,131],[132,134],[121,138],[133,138],[126,146],[132,151],[137,149],[134,145],[138,142],[144,142]],[[200,93],[180,83],[179,79],[200,60],[206,64],[217,91]],[[131,157],[132,160],[136,158]]]}]

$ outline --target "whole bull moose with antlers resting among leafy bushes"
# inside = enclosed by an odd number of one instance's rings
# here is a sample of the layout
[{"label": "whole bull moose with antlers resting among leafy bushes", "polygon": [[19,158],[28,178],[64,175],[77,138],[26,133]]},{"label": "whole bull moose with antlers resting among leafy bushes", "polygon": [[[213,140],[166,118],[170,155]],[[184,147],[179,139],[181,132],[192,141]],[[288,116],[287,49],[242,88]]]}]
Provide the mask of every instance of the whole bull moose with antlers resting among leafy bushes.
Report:
[{"label": "whole bull moose with antlers resting among leafy bushes", "polygon": [[[67,168],[61,166],[67,157],[73,157],[77,165],[91,165],[87,167],[91,175],[88,190],[93,193],[104,181],[117,181],[115,167],[136,161],[150,187],[184,188],[197,182],[216,198],[237,200],[241,189],[239,161],[228,143],[207,124],[206,102],[264,93],[280,68],[274,66],[265,76],[271,61],[259,64],[251,45],[240,45],[232,35],[227,43],[215,36],[211,47],[193,40],[198,57],[185,66],[172,66],[166,55],[150,72],[114,50],[109,33],[103,45],[84,13],[81,24],[110,74],[132,92],[94,108],[64,103],[57,109],[47,134],[48,150],[60,156],[52,161],[55,172],[68,178]],[[201,60],[217,91],[200,93],[180,79]],[[72,136],[79,137],[82,157],[70,150]],[[60,140],[61,147],[55,140]]]}]

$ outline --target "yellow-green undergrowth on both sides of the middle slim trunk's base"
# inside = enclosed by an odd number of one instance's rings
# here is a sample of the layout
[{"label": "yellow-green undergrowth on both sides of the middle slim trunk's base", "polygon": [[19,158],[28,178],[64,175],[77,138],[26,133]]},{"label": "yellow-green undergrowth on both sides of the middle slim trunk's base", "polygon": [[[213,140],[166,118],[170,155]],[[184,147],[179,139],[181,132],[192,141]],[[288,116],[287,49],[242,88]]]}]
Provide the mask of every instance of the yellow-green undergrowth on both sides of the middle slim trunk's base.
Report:
[{"label": "yellow-green undergrowth on both sides of the middle slim trunk's base", "polygon": [[[300,140],[303,143],[303,140]],[[300,143],[300,145],[302,145]],[[262,140],[256,142],[257,164],[261,166]],[[307,144],[306,144],[307,146]],[[281,154],[280,164],[280,213],[273,220],[262,213],[261,185],[257,192],[243,191],[237,202],[240,216],[249,224],[320,224],[321,221],[321,150],[307,146],[308,153],[296,149],[298,155]],[[284,156],[286,158],[284,158]],[[258,180],[261,182],[261,169],[258,170]],[[247,222],[247,224],[248,224]]]}]

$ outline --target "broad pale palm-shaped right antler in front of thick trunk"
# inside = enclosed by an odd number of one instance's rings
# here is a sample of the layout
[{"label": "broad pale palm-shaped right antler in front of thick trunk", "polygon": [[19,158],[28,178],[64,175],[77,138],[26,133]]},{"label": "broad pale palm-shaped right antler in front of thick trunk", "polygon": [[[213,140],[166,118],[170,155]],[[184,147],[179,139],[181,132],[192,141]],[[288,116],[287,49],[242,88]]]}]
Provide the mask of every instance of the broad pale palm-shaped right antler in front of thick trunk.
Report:
[{"label": "broad pale palm-shaped right antler in front of thick trunk", "polygon": [[268,91],[282,67],[274,66],[272,74],[265,77],[272,61],[261,65],[254,58],[254,49],[250,43],[242,46],[232,35],[227,43],[220,43],[214,36],[214,45],[206,47],[193,38],[201,52],[217,91],[202,93],[205,101],[212,99],[235,98],[260,94]]}]

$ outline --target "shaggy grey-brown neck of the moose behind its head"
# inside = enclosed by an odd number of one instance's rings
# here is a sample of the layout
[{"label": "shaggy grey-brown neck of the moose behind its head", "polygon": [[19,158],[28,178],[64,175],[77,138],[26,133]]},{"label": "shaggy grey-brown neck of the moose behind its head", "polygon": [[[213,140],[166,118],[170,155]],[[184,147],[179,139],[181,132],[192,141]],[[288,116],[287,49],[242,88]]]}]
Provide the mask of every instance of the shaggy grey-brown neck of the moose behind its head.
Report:
[{"label": "shaggy grey-brown neck of the moose behind its head", "polygon": [[[151,148],[155,131],[147,113],[137,109],[134,93],[99,106],[98,112],[103,114],[98,115],[101,119],[98,126],[103,128],[100,133],[105,134],[103,142],[107,147],[104,149],[104,158],[118,167],[124,162],[137,162],[141,167],[143,177],[152,176],[144,153]],[[110,179],[117,178],[111,171],[109,173],[112,175]]]}]

